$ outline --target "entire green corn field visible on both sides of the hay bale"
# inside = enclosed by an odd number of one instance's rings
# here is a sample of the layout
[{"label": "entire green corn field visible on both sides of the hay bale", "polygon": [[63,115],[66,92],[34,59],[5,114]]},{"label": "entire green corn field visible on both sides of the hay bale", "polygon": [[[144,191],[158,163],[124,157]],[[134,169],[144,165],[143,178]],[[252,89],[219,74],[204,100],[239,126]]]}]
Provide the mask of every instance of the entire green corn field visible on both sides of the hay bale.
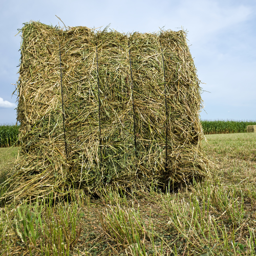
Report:
[{"label": "entire green corn field visible on both sides of the hay bale", "polygon": [[[246,133],[247,125],[256,125],[256,121],[201,120],[204,134]],[[0,147],[12,146],[18,142],[19,125],[0,125]]]}]

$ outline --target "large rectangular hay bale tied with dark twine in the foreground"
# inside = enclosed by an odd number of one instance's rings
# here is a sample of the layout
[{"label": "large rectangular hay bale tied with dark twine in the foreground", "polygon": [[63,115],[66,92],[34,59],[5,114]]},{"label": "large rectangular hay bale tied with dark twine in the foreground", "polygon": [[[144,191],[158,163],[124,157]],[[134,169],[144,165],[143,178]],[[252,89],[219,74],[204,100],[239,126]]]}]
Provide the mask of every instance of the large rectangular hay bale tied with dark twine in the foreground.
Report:
[{"label": "large rectangular hay bale tied with dark twine in the foreground", "polygon": [[22,29],[22,143],[4,198],[206,177],[200,87],[184,31]]}]

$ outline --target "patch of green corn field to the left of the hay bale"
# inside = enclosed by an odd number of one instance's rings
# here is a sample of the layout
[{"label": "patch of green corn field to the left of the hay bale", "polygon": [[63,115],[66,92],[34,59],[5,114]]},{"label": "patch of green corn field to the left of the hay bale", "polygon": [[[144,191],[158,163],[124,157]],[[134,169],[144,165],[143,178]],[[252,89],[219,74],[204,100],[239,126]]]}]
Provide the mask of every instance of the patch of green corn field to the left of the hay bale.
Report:
[{"label": "patch of green corn field to the left of the hay bale", "polygon": [[19,125],[0,125],[0,147],[18,145]]}]

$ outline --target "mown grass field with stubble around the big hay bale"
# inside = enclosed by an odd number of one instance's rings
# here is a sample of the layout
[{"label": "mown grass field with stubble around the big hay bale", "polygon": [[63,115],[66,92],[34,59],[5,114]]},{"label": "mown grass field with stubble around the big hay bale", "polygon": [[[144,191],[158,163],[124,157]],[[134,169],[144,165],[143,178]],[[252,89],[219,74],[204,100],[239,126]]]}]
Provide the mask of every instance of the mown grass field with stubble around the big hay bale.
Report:
[{"label": "mown grass field with stubble around the big hay bale", "polygon": [[[205,137],[201,184],[1,208],[0,255],[255,255],[256,133]],[[17,148],[0,150],[3,180]]]}]

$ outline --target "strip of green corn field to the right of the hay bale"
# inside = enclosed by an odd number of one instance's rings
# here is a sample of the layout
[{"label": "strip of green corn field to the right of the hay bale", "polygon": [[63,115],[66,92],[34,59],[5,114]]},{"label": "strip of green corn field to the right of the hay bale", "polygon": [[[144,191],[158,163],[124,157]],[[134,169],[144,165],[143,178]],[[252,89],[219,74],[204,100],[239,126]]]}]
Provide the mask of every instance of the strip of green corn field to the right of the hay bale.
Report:
[{"label": "strip of green corn field to the right of the hay bale", "polygon": [[256,121],[201,120],[204,134],[246,133],[247,125],[256,125]]}]

